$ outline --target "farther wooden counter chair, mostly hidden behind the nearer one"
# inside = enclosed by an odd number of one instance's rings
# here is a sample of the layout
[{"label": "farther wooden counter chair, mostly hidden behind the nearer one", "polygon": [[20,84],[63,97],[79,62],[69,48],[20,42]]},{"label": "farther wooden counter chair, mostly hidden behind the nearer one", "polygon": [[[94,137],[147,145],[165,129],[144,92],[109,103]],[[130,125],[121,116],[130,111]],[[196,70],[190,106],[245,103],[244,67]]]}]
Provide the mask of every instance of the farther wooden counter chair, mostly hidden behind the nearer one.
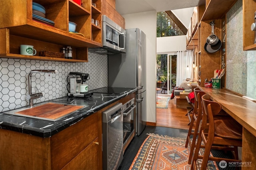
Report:
[{"label": "farther wooden counter chair, mostly hidden behind the nearer one", "polygon": [[[191,117],[191,122],[188,130],[188,136],[186,139],[185,147],[188,147],[188,144],[190,145],[190,154],[188,157],[188,164],[191,164],[192,155],[194,152],[194,148],[196,146],[196,138],[198,136],[198,130],[200,126],[200,122],[202,120],[202,104],[201,104],[201,98],[205,94],[205,92],[201,91],[200,88],[194,88],[194,94],[195,94],[195,104],[194,104],[194,110]],[[196,125],[194,126],[194,122]],[[192,132],[194,126],[194,132]],[[190,140],[190,135],[193,135],[192,143]]]}]

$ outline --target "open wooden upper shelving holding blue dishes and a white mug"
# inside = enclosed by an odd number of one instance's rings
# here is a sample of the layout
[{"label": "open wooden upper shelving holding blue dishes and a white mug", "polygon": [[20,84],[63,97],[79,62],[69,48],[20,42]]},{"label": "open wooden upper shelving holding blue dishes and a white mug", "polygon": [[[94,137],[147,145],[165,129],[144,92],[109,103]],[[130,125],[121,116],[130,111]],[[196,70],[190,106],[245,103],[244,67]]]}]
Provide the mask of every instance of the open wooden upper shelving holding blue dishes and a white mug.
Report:
[{"label": "open wooden upper shelving holding blue dishes and a white mug", "polygon": [[[54,26],[33,20],[32,2],[46,8],[46,18]],[[96,7],[92,5],[96,4]],[[46,61],[86,62],[88,47],[102,46],[101,0],[82,0],[82,6],[72,0],[1,0],[0,57]],[[77,24],[76,32],[69,32],[68,22]],[[20,55],[20,45],[34,45],[35,56]],[[40,51],[60,52],[61,47],[72,47],[72,59],[41,57]]]}]

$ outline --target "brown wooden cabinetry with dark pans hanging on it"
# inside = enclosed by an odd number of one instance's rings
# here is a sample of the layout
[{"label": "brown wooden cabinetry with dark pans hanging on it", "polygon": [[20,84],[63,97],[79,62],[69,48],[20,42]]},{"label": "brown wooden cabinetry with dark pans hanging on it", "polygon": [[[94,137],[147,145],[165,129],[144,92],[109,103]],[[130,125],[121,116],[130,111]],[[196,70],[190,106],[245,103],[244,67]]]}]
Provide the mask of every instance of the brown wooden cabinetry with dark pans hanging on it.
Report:
[{"label": "brown wooden cabinetry with dark pans hanging on it", "polygon": [[[214,75],[214,70],[221,69],[222,67],[222,48],[225,48],[225,45],[215,53],[207,53],[204,49],[206,39],[212,32],[210,22],[214,20],[214,34],[223,41],[223,18],[225,18],[226,13],[236,1],[237,0],[200,0],[199,2],[197,8],[198,27],[196,28],[196,31],[194,31],[194,35],[197,35],[198,37],[198,55],[196,56],[197,70],[194,71],[198,72],[198,75],[194,77],[198,78],[199,86],[204,86],[204,80],[206,78],[210,80]],[[194,13],[196,14],[195,11]],[[195,15],[194,13],[193,16]],[[191,24],[195,25],[195,20],[191,19]],[[188,42],[190,47],[193,42],[192,40],[193,38]]]}]

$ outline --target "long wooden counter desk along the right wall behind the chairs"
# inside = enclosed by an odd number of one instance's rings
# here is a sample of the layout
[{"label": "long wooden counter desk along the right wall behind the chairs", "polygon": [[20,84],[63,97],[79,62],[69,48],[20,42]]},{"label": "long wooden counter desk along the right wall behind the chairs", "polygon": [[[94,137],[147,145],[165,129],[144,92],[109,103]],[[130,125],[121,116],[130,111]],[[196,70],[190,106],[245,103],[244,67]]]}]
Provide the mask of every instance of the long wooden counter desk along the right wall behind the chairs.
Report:
[{"label": "long wooden counter desk along the right wall behind the chairs", "polygon": [[199,88],[243,126],[242,162],[251,164],[242,166],[242,170],[256,170],[256,103],[224,88]]}]

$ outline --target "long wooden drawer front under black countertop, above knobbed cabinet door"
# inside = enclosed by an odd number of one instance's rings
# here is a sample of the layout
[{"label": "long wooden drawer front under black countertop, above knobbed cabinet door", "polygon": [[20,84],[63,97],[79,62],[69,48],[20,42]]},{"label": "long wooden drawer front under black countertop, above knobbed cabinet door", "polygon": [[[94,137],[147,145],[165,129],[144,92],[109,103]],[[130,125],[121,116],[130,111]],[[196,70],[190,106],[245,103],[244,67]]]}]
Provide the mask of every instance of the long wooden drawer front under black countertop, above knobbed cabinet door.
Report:
[{"label": "long wooden drawer front under black countertop, above knobbed cabinet door", "polygon": [[63,168],[101,136],[101,117],[100,112],[94,113],[51,137],[52,169]]}]

